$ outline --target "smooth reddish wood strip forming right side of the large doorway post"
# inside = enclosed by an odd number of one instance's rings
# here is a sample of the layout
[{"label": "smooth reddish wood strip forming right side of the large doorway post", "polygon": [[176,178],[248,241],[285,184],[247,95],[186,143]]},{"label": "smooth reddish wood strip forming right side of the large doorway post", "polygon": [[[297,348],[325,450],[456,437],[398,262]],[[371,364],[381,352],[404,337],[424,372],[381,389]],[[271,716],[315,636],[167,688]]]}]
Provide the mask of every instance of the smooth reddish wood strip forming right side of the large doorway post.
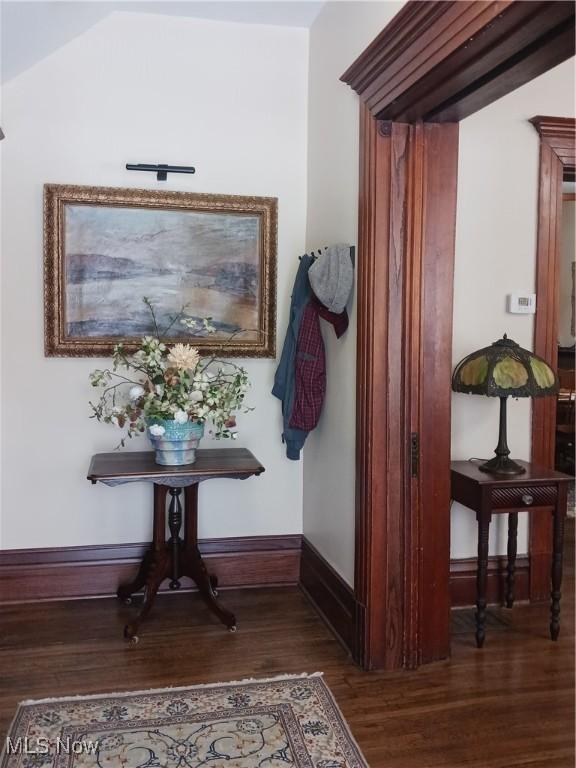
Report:
[{"label": "smooth reddish wood strip forming right side of the large doorway post", "polygon": [[419,662],[448,655],[450,643],[450,415],[458,124],[422,133],[421,331],[419,355]]}]

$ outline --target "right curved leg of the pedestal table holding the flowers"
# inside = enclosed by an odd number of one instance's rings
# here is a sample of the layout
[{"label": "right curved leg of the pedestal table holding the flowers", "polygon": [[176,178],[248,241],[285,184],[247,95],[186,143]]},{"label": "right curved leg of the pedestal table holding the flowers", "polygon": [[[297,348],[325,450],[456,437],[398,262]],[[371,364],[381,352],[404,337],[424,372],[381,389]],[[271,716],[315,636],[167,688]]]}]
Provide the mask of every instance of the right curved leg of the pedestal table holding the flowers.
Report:
[{"label": "right curved leg of the pedestal table holding the flowers", "polygon": [[182,552],[182,574],[191,578],[200,596],[220,621],[232,632],[236,631],[236,617],[223,608],[216,599],[215,576],[210,576],[198,549],[198,484],[185,489],[186,529]]}]

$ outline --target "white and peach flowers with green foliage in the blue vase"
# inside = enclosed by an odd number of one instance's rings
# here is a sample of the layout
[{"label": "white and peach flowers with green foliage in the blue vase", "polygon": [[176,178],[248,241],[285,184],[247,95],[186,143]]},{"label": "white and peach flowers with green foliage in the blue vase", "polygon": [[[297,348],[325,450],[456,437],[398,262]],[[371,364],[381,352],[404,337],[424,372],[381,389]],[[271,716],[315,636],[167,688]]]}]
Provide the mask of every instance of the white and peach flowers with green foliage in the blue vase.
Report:
[{"label": "white and peach flowers with green foliage in the blue vase", "polygon": [[144,303],[152,314],[155,335],[145,336],[132,355],[117,344],[112,368],[92,371],[90,383],[102,392],[96,403],[90,402],[91,418],[125,429],[120,446],[146,427],[151,435],[161,437],[165,428],[154,422],[166,420],[176,424],[210,421],[216,438],[235,439],[235,413],[251,410],[244,405],[249,387],[246,370],[214,356],[201,358],[189,344],[168,346],[161,340],[176,322],[198,329],[197,335],[198,331],[214,333],[210,318],[197,321],[182,310],[160,332],[152,302],[144,298]]}]

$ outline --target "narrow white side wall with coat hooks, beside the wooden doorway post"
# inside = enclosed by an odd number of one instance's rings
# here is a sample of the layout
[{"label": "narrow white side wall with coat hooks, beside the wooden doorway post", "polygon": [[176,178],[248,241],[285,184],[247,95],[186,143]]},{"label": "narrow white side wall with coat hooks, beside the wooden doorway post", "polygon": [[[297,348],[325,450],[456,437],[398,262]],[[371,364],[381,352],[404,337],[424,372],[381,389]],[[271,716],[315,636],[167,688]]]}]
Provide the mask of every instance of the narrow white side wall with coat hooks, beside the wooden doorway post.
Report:
[{"label": "narrow white side wall with coat hooks, beside the wooden doorway post", "polygon": [[[309,249],[356,245],[358,97],[340,76],[400,10],[402,3],[335,2],[310,30]],[[304,449],[304,534],[349,584],[354,581],[356,309],[341,339],[324,324],[327,392]]]}]

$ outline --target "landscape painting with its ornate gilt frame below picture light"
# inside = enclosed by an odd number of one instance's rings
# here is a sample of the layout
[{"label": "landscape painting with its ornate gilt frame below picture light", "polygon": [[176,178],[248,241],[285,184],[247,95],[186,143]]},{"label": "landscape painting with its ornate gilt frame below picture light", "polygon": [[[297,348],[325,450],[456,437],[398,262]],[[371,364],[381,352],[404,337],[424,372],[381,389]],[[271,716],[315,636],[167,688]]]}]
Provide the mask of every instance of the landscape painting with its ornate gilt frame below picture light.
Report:
[{"label": "landscape painting with its ornate gilt frame below picture light", "polygon": [[47,184],[46,356],[107,357],[158,329],[274,357],[276,238],[276,198]]}]

